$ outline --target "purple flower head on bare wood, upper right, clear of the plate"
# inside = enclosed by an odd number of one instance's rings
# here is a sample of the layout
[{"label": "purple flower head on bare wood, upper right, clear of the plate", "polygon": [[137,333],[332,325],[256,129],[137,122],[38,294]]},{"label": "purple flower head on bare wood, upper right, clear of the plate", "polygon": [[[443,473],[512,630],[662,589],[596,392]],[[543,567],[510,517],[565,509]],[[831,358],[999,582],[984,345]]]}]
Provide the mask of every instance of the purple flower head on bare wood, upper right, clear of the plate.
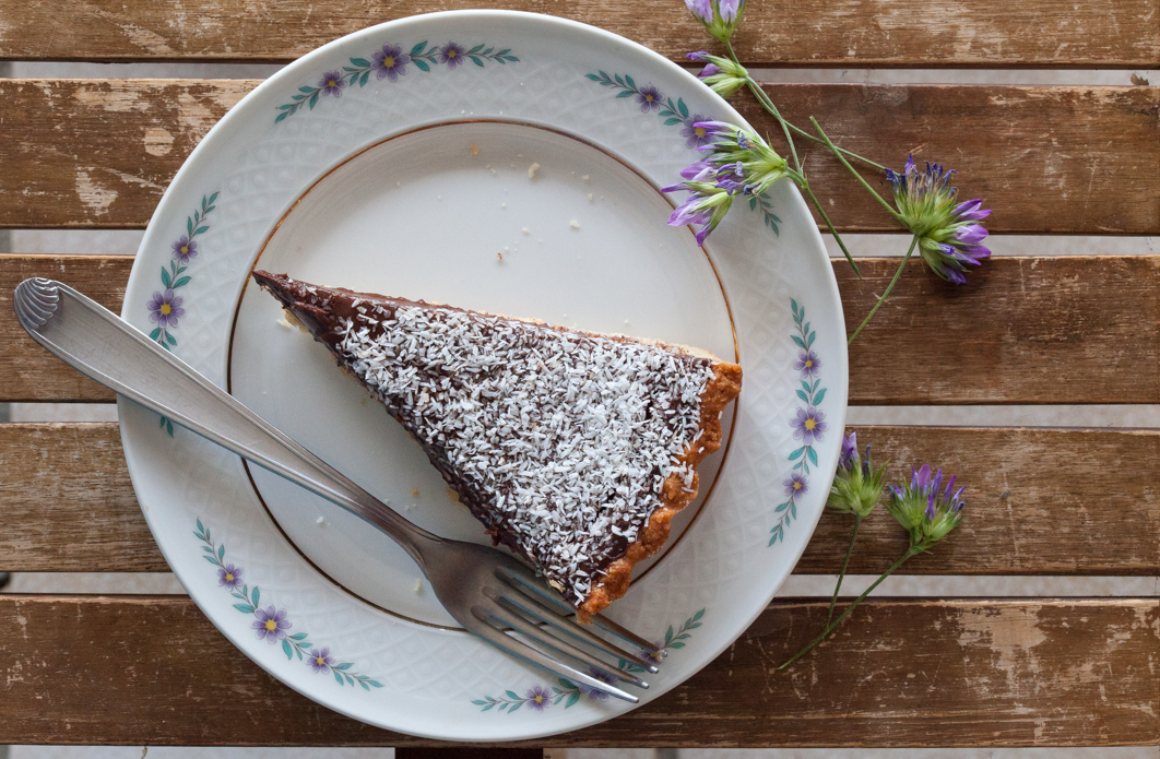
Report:
[{"label": "purple flower head on bare wood, upper right, clear of the plate", "polygon": [[918,238],[919,254],[930,270],[955,284],[966,284],[967,266],[979,266],[991,251],[981,245],[987,230],[978,222],[991,215],[979,198],[956,203],[958,188],[950,183],[954,169],[927,162],[919,171],[914,157],[899,173],[886,169],[894,204],[902,223]]}]

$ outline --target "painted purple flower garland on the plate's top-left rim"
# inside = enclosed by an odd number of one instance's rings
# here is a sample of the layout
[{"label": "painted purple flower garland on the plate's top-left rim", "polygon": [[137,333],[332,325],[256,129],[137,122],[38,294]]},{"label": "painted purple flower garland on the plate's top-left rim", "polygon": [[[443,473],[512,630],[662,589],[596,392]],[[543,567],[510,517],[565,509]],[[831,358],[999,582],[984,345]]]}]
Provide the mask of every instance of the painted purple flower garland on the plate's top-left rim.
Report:
[{"label": "painted purple flower garland on the plate's top-left rim", "polygon": [[274,123],[298,113],[303,106],[313,110],[320,96],[341,97],[342,91],[353,87],[355,82],[358,84],[358,87],[365,87],[372,73],[377,80],[386,79],[394,82],[399,80],[399,77],[407,75],[412,64],[423,73],[430,73],[433,66],[447,66],[455,70],[458,66],[465,66],[469,60],[480,68],[486,67],[488,60],[501,65],[520,63],[520,59],[512,55],[510,48],[496,50],[494,45],[478,44],[469,50],[455,41],[449,41],[444,45],[434,44],[429,48],[427,43],[428,41],[423,39],[412,46],[408,52],[403,52],[400,45],[392,45],[387,42],[371,53],[369,59],[350,58],[349,66],[324,71],[317,85],[303,85],[298,88],[298,94],[290,97],[291,102],[277,107],[278,115],[274,118]]}]

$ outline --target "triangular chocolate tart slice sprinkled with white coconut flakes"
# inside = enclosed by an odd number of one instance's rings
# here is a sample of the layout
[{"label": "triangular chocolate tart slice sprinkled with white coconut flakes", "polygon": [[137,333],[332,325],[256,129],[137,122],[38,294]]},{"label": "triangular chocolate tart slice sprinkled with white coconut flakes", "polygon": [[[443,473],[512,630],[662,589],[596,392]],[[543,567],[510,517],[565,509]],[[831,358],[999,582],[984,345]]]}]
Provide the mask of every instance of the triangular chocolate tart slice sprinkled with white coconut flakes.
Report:
[{"label": "triangular chocolate tart slice sprinkled with white coconut flakes", "polygon": [[741,367],[695,348],[254,272],[496,543],[588,619],[665,544]]}]

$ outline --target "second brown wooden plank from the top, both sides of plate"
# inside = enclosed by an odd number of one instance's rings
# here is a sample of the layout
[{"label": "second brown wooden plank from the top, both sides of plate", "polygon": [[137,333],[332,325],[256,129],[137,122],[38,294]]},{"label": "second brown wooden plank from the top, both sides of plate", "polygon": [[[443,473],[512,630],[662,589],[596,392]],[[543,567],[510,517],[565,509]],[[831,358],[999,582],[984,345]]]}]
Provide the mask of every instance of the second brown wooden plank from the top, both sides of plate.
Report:
[{"label": "second brown wooden plank from the top, both sides of plate", "polygon": [[[0,80],[0,226],[143,227],[193,147],[252,80]],[[994,232],[1160,233],[1160,88],[769,85],[788,117],[887,166],[948,161]],[[611,95],[610,95],[611,96]],[[734,97],[763,132],[774,122]],[[116,129],[109,129],[116,123]],[[777,139],[774,140],[780,145]],[[803,144],[844,231],[897,231]],[[878,185],[880,176],[868,174]],[[223,202],[225,200],[223,198]]]}]

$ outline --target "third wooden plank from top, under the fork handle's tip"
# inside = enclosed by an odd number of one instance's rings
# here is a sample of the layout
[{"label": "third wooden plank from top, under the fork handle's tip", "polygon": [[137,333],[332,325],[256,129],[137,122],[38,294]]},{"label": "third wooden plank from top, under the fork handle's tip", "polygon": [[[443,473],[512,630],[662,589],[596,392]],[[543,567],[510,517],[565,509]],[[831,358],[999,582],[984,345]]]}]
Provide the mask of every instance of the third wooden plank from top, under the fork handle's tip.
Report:
[{"label": "third wooden plank from top, under the fork handle's tip", "polygon": [[[119,310],[131,265],[0,255],[0,400],[113,398],[32,342],[10,299],[24,277],[52,276]],[[858,281],[834,265],[849,331],[898,262],[861,266]],[[855,405],[1160,403],[1160,259],[994,259],[962,288],[914,261],[851,347],[850,367]]]}]

